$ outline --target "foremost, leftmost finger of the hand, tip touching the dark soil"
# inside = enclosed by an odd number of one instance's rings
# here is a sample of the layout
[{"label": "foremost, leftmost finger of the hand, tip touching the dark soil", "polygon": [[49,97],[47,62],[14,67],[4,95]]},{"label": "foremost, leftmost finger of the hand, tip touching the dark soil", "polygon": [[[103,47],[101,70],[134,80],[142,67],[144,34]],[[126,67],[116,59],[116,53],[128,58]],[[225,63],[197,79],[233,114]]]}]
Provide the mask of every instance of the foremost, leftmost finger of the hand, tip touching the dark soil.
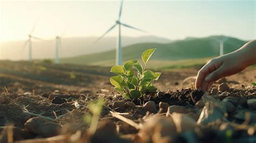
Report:
[{"label": "foremost, leftmost finger of the hand, tip touching the dark soil", "polygon": [[205,80],[205,77],[211,73],[212,71],[216,70],[218,67],[215,66],[214,62],[212,60],[208,62],[206,65],[204,65],[197,74],[197,79],[196,79],[196,88],[201,87],[203,84],[203,81]]}]

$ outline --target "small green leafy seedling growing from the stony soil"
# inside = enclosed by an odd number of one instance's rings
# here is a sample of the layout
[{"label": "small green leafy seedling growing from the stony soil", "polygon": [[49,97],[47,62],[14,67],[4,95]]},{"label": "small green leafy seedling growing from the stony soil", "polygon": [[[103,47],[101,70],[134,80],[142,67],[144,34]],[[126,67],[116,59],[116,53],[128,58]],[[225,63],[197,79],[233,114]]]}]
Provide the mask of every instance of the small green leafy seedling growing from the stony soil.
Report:
[{"label": "small green leafy seedling growing from the stony soil", "polygon": [[[138,60],[129,60],[123,66],[112,66],[110,72],[118,74],[110,78],[110,83],[114,90],[118,91],[126,99],[135,99],[143,97],[146,93],[156,92],[157,88],[153,86],[153,81],[158,80],[161,73],[145,70],[146,64],[156,49],[148,49],[143,52],[142,64]],[[137,72],[134,72],[136,69]]]}]

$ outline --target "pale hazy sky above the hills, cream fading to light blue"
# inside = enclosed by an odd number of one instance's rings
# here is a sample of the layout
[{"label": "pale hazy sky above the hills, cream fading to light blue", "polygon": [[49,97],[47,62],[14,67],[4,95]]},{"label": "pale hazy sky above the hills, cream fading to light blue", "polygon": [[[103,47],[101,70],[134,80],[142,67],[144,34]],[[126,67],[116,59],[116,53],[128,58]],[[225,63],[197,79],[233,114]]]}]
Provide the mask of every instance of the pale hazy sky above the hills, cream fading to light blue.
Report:
[{"label": "pale hazy sky above the hills, cream fading to light blue", "polygon": [[[0,40],[33,35],[53,38],[100,36],[118,17],[120,1],[2,1]],[[256,1],[124,1],[121,21],[148,31],[122,28],[122,35],[170,39],[227,35],[256,38]],[[117,29],[107,36],[116,36]]]}]

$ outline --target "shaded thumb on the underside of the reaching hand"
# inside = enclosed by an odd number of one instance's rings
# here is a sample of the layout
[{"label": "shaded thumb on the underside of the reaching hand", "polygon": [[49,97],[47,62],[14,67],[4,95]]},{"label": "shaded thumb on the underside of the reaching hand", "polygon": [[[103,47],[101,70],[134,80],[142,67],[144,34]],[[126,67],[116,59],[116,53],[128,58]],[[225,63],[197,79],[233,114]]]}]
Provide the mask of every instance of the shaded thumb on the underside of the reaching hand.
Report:
[{"label": "shaded thumb on the underside of the reaching hand", "polygon": [[212,82],[216,81],[218,79],[221,79],[224,77],[225,68],[224,66],[220,66],[219,69],[213,71],[212,73],[208,74],[208,76],[205,78],[206,82]]}]

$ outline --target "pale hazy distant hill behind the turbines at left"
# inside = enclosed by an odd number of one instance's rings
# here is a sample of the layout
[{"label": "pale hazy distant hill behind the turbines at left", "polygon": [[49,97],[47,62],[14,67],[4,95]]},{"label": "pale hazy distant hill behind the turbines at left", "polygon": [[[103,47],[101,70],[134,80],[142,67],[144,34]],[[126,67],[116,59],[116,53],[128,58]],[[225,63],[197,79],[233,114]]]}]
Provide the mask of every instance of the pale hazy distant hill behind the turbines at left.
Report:
[{"label": "pale hazy distant hill behind the turbines at left", "polygon": [[[73,37],[62,38],[62,48],[60,49],[60,57],[74,57],[79,55],[88,55],[96,52],[109,51],[116,46],[116,37],[104,37],[98,43],[95,43],[98,37]],[[156,36],[140,36],[140,37],[122,37],[124,46],[137,43],[169,43],[170,39]],[[3,42],[0,43],[1,59],[8,60],[27,60],[28,47],[24,47],[25,41]],[[32,41],[32,57],[33,59],[49,59],[55,57],[55,39],[46,39],[44,41]]]}]

